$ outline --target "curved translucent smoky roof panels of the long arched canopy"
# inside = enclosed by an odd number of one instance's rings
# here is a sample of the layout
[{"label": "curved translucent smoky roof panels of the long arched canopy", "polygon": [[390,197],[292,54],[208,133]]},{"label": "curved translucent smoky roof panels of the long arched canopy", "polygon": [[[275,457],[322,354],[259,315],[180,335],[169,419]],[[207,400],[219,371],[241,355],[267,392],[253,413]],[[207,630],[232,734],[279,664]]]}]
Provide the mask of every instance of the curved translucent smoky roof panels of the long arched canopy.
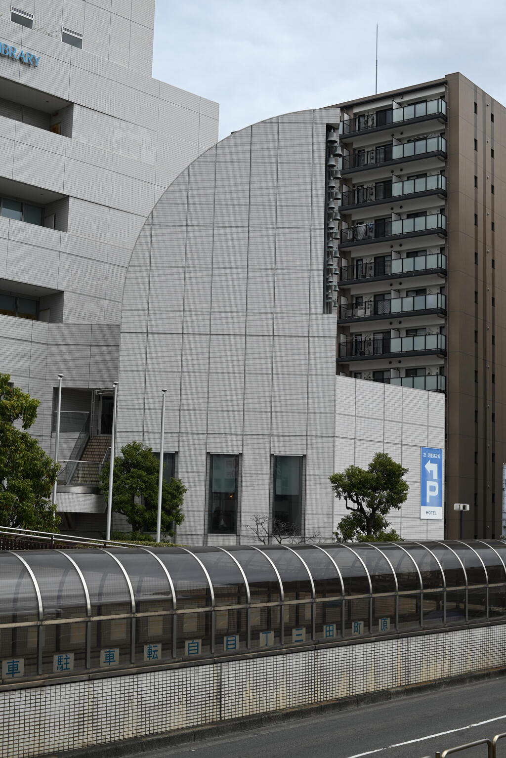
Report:
[{"label": "curved translucent smoky roof panels of the long arched canopy", "polygon": [[0,552],[0,624],[506,582],[500,540]]}]

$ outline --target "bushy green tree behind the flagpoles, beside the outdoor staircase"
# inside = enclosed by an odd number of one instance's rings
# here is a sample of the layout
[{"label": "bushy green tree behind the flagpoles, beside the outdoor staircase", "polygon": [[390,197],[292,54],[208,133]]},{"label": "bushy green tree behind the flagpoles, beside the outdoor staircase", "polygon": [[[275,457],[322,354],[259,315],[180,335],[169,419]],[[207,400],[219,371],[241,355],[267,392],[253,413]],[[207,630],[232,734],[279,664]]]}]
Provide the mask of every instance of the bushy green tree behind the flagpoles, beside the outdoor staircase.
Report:
[{"label": "bushy green tree behind the flagpoles, beside the outdoor staircase", "polygon": [[[114,458],[112,507],[126,516],[132,531],[156,530],[158,509],[159,459],[151,447],[140,442],[130,442],[121,448],[121,455]],[[109,464],[102,471],[102,488],[109,487]],[[174,534],[172,524],[183,523],[184,494],[186,487],[180,479],[171,478],[162,482],[161,531]]]}]

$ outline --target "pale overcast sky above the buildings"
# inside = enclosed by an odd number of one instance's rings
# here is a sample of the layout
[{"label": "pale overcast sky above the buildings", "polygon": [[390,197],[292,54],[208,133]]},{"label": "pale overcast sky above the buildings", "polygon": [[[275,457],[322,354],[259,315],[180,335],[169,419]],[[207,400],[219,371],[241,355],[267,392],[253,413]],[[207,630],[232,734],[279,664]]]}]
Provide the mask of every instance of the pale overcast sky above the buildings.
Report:
[{"label": "pale overcast sky above the buildings", "polygon": [[504,0],[157,0],[153,75],[220,103],[220,139],[288,111],[444,77],[506,105]]}]

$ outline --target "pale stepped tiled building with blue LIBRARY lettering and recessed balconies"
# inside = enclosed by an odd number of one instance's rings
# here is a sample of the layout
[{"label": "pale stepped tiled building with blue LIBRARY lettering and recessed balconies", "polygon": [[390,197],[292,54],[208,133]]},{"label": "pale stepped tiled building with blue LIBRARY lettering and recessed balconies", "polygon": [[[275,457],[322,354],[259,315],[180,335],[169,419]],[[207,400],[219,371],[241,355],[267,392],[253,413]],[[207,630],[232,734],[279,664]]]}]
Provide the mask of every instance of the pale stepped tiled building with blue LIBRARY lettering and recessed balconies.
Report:
[{"label": "pale stepped tiled building with blue LIBRARY lettering and recessed balconies", "polygon": [[[16,6],[0,0],[0,371],[42,401],[33,433],[50,453],[64,374],[69,459],[82,429],[110,431],[132,248],[167,185],[215,143],[218,107],[151,78],[155,0]],[[61,512],[103,511],[80,490],[61,488]]]}]

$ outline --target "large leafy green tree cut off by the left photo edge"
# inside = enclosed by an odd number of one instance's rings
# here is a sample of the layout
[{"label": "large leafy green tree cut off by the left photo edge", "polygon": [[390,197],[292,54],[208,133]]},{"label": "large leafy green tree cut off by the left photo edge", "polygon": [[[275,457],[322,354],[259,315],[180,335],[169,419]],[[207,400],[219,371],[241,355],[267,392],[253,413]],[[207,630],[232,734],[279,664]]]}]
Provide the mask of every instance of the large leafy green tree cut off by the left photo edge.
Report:
[{"label": "large leafy green tree cut off by the left photo edge", "polygon": [[27,431],[39,400],[11,387],[10,379],[0,374],[0,524],[58,531],[51,496],[60,466]]}]

